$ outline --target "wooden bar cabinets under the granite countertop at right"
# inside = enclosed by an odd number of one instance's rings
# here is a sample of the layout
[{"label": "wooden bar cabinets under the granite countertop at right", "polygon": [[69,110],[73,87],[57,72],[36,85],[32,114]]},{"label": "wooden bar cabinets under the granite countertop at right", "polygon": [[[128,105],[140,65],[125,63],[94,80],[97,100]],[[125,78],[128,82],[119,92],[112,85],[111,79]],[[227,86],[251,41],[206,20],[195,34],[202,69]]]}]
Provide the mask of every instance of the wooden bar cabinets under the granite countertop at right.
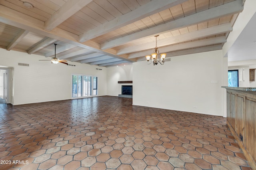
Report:
[{"label": "wooden bar cabinets under the granite countertop at right", "polygon": [[256,169],[256,91],[226,89],[227,124],[250,166]]}]

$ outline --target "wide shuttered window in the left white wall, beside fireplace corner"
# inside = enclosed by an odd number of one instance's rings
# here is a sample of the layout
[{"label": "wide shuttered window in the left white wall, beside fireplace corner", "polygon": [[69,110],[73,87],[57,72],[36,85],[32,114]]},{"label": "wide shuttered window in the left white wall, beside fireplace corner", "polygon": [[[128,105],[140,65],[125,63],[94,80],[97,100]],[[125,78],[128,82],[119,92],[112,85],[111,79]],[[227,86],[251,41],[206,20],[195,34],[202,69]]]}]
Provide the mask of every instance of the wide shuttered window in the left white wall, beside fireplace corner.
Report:
[{"label": "wide shuttered window in the left white wall, beside fireplace corner", "polygon": [[98,77],[72,75],[72,97],[98,95]]}]

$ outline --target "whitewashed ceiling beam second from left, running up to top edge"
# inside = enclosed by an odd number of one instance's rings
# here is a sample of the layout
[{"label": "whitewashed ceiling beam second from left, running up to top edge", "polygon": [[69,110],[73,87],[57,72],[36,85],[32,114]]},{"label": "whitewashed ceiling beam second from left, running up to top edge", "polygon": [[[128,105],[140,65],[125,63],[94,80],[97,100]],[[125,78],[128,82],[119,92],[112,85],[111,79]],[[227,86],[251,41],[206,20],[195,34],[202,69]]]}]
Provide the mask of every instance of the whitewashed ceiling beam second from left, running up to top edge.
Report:
[{"label": "whitewashed ceiling beam second from left, running up to top edge", "polygon": [[157,12],[160,12],[165,9],[176,6],[178,4],[181,4],[182,2],[185,2],[185,1],[187,1],[187,0],[161,0],[161,3],[159,3],[159,1],[153,0],[143,6],[140,6],[139,8],[137,8],[131,12],[128,12],[124,15],[118,16],[114,20],[111,20],[110,22],[106,22],[105,24],[102,24],[102,25],[80,35],[79,41],[85,42],[87,40],[91,40],[93,38],[96,38],[96,37],[106,34],[108,32],[114,31],[117,28],[126,26],[127,24],[131,24],[138,20],[141,20],[147,16],[156,14]]}]

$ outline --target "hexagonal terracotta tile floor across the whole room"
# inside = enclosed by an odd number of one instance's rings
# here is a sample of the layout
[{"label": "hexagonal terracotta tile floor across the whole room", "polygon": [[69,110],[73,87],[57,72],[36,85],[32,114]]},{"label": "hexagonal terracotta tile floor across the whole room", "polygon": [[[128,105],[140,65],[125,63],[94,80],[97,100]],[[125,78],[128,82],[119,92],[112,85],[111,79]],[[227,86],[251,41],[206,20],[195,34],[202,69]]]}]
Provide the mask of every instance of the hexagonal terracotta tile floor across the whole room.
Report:
[{"label": "hexagonal terracotta tile floor across the whole room", "polygon": [[1,170],[251,169],[225,118],[109,96],[0,105],[0,160]]}]

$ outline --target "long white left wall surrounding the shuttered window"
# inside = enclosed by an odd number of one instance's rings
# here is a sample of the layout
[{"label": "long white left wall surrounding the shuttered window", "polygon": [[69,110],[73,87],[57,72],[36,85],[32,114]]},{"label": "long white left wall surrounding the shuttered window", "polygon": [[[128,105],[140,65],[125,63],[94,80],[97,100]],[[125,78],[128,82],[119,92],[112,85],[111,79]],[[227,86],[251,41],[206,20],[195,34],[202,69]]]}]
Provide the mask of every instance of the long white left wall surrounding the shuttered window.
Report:
[{"label": "long white left wall surrounding the shuttered window", "polygon": [[[77,62],[71,67],[62,63],[51,64],[44,56],[0,49],[0,66],[12,69],[13,105],[71,99],[72,73],[98,76],[98,95],[106,95],[106,68]],[[20,66],[18,63],[27,63]],[[97,70],[100,68],[102,70]]]}]

